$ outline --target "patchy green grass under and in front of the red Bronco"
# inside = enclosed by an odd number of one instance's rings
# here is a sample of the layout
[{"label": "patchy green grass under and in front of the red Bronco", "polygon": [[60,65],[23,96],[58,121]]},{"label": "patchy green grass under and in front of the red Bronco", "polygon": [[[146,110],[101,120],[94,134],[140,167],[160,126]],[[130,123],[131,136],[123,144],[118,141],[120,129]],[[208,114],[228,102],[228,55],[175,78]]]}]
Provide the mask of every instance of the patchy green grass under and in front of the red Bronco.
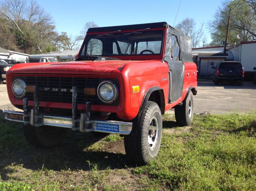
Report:
[{"label": "patchy green grass under and in front of the red Bronco", "polygon": [[60,147],[35,149],[21,125],[1,118],[0,190],[255,190],[256,113],[196,115],[192,128],[163,119],[158,157],[137,167],[124,153],[105,151],[122,143],[118,135],[71,131]]}]

